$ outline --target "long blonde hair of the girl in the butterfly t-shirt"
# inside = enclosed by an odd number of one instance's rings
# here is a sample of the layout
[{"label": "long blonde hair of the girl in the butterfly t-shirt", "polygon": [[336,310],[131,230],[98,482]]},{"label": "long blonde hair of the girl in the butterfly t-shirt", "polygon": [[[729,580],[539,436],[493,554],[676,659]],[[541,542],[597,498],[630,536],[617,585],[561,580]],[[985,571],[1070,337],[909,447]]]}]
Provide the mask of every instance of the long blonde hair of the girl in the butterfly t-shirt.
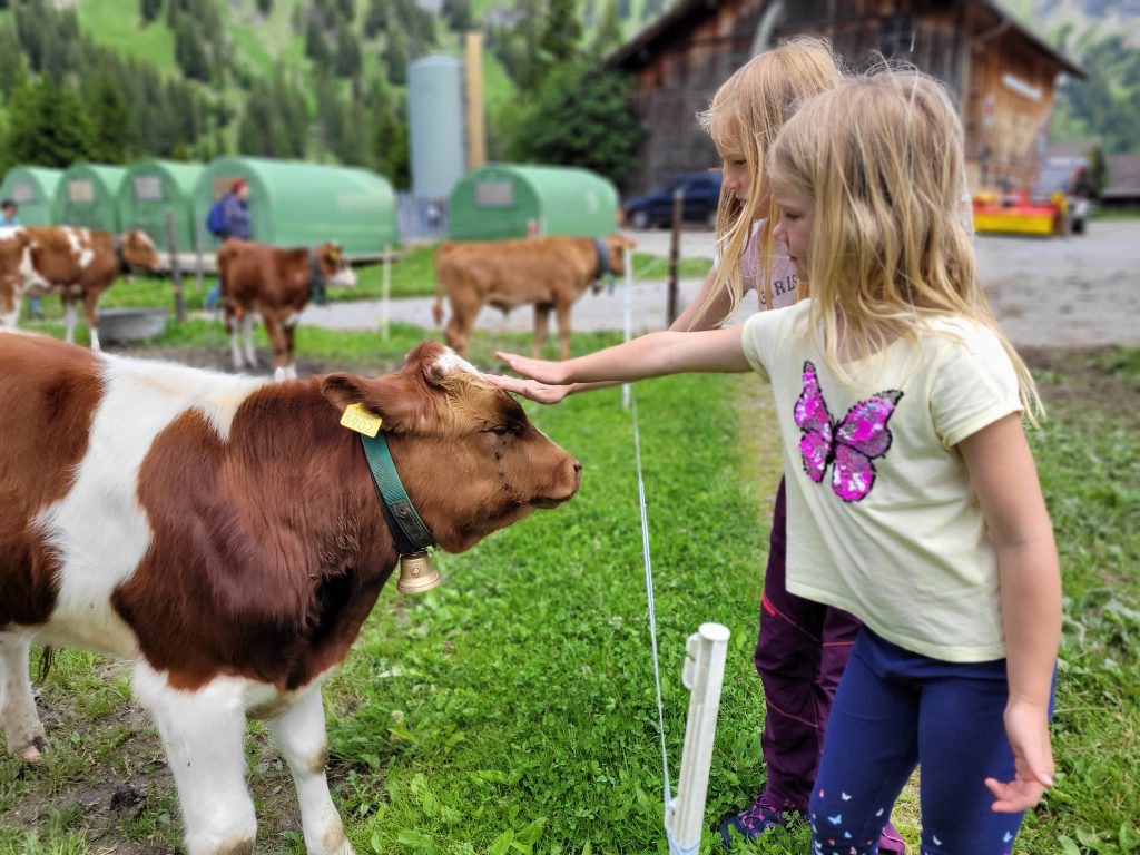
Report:
[{"label": "long blonde hair of the girl in the butterfly t-shirt", "polygon": [[813,204],[809,320],[832,372],[849,381],[847,359],[899,337],[917,344],[927,321],[966,317],[1000,339],[1034,421],[1043,409],[1033,377],[978,282],[960,211],[963,162],[962,125],[943,87],[882,68],[804,104],[767,166],[777,194]]}]

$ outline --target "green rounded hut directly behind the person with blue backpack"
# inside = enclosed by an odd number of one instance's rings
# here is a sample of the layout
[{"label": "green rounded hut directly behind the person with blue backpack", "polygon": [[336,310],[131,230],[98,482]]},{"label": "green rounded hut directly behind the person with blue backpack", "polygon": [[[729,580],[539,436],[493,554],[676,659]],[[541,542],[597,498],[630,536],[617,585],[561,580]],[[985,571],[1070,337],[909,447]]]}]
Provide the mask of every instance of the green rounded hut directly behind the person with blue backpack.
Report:
[{"label": "green rounded hut directly behind the person with blue backpack", "polygon": [[[340,241],[350,256],[380,255],[397,242],[396,193],[380,176],[355,166],[333,166],[266,157],[219,157],[198,177],[195,218],[205,222],[210,205],[237,178],[250,185],[253,239],[274,246],[309,246]],[[212,236],[205,246],[217,247]]]}]

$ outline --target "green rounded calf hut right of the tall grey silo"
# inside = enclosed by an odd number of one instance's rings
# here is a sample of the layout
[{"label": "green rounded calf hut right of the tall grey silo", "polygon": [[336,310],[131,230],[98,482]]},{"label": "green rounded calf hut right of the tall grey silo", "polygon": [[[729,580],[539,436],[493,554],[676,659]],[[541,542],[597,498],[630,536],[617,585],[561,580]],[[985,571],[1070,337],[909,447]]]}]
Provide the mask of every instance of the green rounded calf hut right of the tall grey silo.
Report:
[{"label": "green rounded calf hut right of the tall grey silo", "polygon": [[447,215],[455,241],[600,237],[617,231],[618,190],[585,169],[492,163],[455,185]]}]

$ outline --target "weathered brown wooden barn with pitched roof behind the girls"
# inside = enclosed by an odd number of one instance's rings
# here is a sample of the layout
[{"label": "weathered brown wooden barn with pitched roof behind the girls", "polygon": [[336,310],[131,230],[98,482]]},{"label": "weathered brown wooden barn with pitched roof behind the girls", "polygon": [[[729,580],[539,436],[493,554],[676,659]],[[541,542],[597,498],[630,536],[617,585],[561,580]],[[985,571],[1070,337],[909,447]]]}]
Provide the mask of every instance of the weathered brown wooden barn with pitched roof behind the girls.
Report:
[{"label": "weathered brown wooden barn with pitched roof behind the girls", "polygon": [[719,164],[697,123],[750,57],[796,35],[831,41],[852,70],[904,59],[953,92],[972,189],[1032,182],[1060,74],[1084,71],[991,0],[681,0],[606,67],[636,80],[650,128],[630,193]]}]

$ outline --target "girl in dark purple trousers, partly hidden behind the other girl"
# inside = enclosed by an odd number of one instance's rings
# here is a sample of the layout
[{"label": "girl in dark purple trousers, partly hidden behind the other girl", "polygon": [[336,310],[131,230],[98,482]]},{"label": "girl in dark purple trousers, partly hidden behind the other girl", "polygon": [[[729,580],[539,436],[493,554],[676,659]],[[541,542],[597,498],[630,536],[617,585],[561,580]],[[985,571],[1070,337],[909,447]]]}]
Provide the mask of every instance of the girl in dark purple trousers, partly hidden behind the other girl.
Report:
[{"label": "girl in dark purple trousers, partly hidden behind the other girl", "polygon": [[[756,288],[759,308],[796,302],[797,274],[788,247],[773,241],[775,205],[764,174],[764,158],[795,106],[838,85],[841,74],[826,42],[796,39],[741,66],[701,114],[724,162],[716,263],[701,293],[669,327],[709,329],[727,320],[744,292]],[[549,386],[504,378],[507,389],[543,404],[610,383]],[[764,685],[765,718],[760,749],[767,782],[751,804],[720,823],[757,838],[795,815],[807,816],[812,783],[823,749],[823,732],[839,676],[858,621],[845,611],[788,592],[784,585],[785,498],[776,492],[767,569],[760,600],[755,663]],[[887,824],[883,855],[903,855],[905,846]]]}]

